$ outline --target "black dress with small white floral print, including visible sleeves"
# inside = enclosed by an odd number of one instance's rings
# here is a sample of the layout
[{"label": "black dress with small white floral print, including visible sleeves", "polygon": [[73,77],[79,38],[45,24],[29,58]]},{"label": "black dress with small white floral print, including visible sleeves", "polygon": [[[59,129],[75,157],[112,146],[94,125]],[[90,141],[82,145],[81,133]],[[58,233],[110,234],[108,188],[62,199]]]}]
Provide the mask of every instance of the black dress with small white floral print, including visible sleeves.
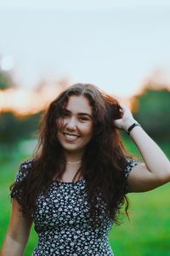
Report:
[{"label": "black dress with small white floral print, including visible sleeves", "polygon": [[[129,160],[125,177],[138,162]],[[19,182],[31,169],[31,160],[21,164],[16,177]],[[21,191],[14,191],[12,197]],[[38,235],[37,246],[32,256],[113,256],[109,244],[109,231],[113,224],[105,214],[105,205],[97,198],[101,207],[99,226],[92,229],[89,223],[89,207],[86,181],[52,181],[46,194],[39,194],[36,210],[32,215]]]}]

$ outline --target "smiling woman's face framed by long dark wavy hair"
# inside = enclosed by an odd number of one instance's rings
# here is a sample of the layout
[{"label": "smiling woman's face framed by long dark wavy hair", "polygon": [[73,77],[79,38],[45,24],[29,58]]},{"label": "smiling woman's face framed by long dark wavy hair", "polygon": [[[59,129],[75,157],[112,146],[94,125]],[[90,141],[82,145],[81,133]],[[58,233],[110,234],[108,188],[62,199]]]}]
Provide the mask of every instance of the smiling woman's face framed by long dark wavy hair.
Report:
[{"label": "smiling woman's face framed by long dark wavy hair", "polygon": [[58,120],[57,137],[70,152],[82,152],[93,135],[92,107],[85,96],[70,96],[63,117]]}]

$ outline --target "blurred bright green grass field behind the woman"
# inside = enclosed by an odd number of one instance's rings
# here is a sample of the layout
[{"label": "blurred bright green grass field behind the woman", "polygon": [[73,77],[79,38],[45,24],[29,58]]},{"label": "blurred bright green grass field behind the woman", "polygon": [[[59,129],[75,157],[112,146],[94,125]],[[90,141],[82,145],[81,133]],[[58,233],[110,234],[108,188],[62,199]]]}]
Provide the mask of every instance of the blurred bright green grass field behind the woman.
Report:
[{"label": "blurred bright green grass field behind the woman", "polygon": [[[133,143],[125,141],[130,152],[138,154]],[[161,148],[170,155],[168,143]],[[0,154],[0,247],[8,229],[10,216],[9,185],[14,181],[20,162],[29,157],[28,152],[16,149],[5,158]],[[111,247],[116,256],[169,256],[170,255],[170,183],[147,193],[128,194],[130,221],[125,217],[120,226],[110,233]],[[31,230],[26,256],[31,255],[37,235]]]}]

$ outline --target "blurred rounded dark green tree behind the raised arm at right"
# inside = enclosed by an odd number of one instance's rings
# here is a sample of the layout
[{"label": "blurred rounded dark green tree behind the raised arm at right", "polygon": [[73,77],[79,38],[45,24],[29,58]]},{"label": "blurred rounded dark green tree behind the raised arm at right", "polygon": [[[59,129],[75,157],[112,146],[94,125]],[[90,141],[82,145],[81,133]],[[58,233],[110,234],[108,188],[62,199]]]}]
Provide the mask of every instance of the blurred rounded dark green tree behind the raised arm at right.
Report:
[{"label": "blurred rounded dark green tree behind the raised arm at right", "polygon": [[133,116],[150,137],[166,141],[170,139],[170,91],[154,90],[152,86],[148,84],[140,95],[133,96]]}]

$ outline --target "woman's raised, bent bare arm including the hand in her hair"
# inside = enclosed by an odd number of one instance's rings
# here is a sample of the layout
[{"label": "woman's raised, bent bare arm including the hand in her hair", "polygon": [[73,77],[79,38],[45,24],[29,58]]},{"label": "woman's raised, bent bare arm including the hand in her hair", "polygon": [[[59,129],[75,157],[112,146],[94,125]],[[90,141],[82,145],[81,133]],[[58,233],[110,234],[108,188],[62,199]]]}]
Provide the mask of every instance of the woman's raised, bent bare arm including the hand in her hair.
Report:
[{"label": "woman's raised, bent bare arm including the hand in her hair", "polygon": [[[137,123],[137,121],[133,119],[130,110],[122,107],[122,119],[116,120],[116,126],[127,131],[133,123]],[[139,148],[144,163],[133,167],[127,178],[128,189],[132,192],[144,192],[169,182],[170,162],[161,148],[140,126],[133,127],[129,136]]]}]

